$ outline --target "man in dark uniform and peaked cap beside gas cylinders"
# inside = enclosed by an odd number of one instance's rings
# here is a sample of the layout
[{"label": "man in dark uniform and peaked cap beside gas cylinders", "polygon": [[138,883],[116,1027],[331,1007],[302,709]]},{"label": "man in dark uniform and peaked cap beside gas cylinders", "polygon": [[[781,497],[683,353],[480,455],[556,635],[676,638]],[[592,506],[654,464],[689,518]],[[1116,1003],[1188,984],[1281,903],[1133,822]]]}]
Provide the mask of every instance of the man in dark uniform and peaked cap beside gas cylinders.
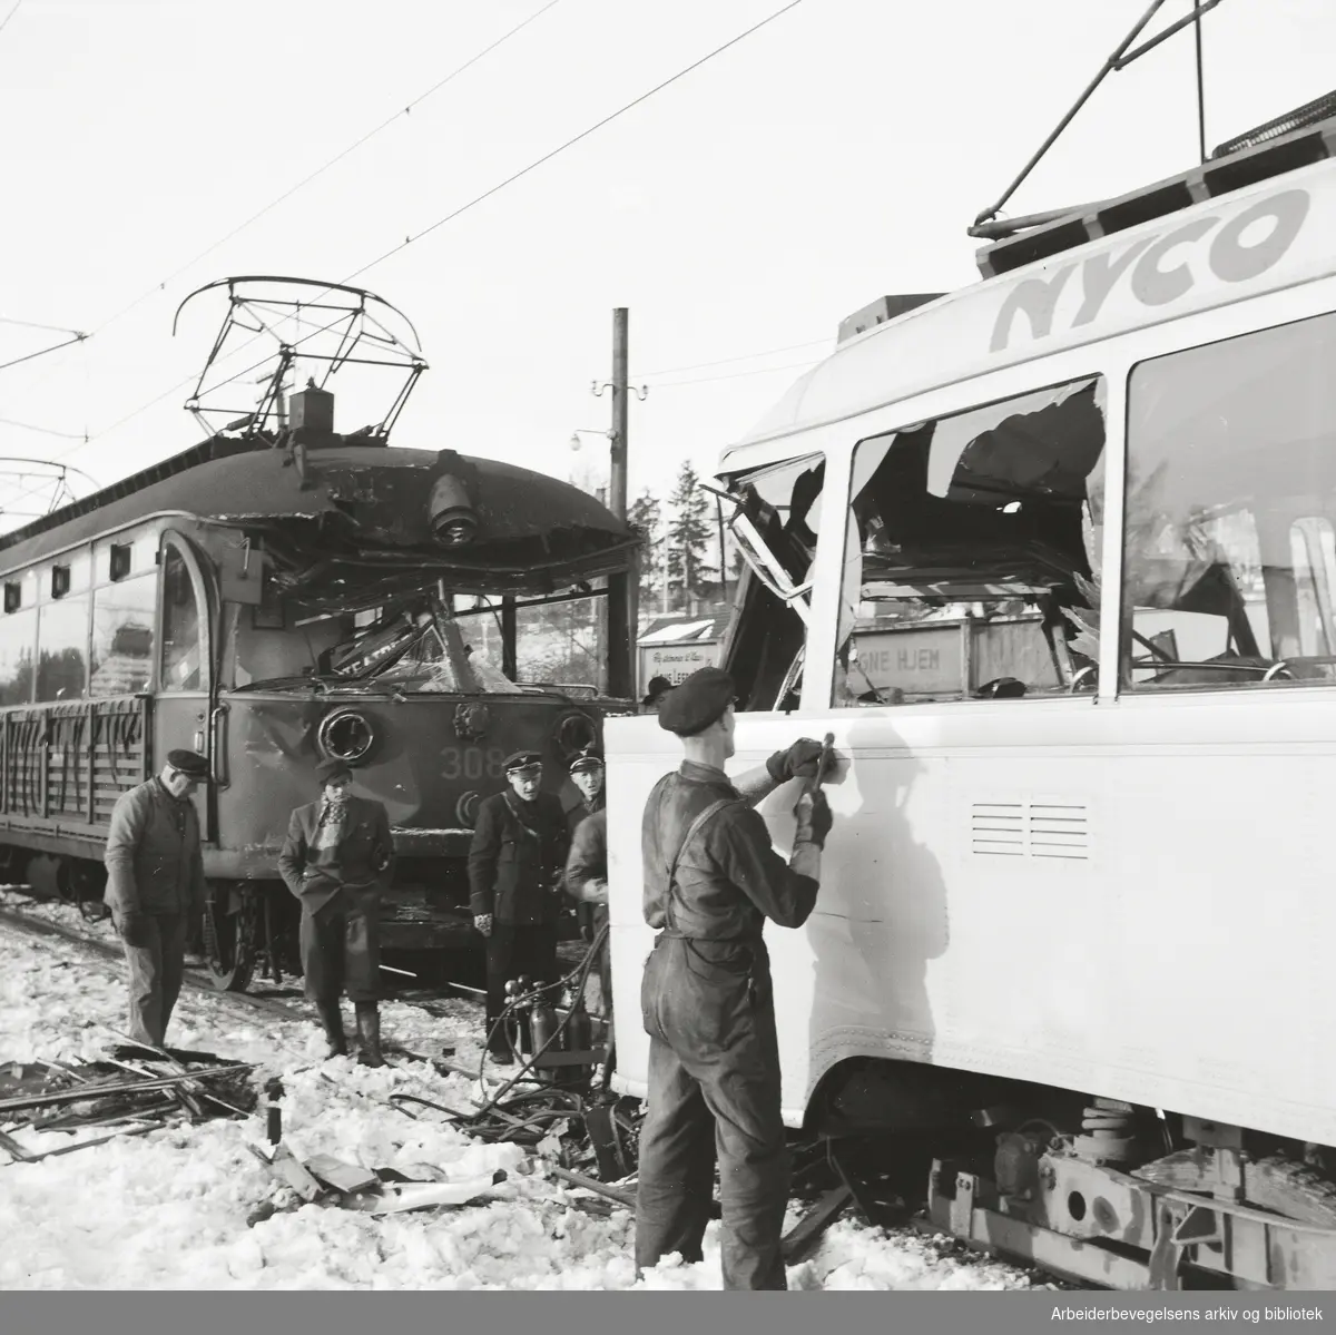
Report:
[{"label": "man in dark uniform and peaked cap beside gas cylinders", "polygon": [[557,911],[569,835],[561,800],[540,792],[542,758],[506,756],[509,787],[478,806],[469,849],[473,925],[488,938],[488,1048],[497,1061],[510,1046],[497,1020],[505,985],[528,976],[552,982],[557,973]]}]

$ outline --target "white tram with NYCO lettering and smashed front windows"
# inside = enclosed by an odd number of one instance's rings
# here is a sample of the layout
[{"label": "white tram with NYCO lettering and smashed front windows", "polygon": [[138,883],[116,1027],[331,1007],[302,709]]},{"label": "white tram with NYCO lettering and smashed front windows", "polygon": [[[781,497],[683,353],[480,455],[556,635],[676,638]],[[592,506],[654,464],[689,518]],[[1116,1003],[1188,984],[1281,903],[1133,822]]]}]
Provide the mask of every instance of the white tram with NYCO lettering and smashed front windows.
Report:
[{"label": "white tram with NYCO lettering and smashed front windows", "polygon": [[[1323,120],[989,247],[720,465],[736,764],[842,760],[816,910],[767,927],[786,1121],[987,1127],[931,1220],[1114,1287],[1336,1287],[1333,155]],[[607,744],[640,1096],[679,748]]]}]

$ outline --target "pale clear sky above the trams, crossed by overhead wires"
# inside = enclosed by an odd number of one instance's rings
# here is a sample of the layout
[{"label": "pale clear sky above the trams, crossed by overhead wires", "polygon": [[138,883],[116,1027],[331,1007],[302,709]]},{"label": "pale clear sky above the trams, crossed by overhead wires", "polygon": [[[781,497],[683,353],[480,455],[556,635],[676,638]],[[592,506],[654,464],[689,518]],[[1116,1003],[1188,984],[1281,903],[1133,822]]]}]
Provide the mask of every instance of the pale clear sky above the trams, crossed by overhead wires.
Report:
[{"label": "pale clear sky above the trams, crossed by overhead wires", "polygon": [[[0,0],[0,362],[65,337],[13,321],[92,333],[0,370],[0,453],[106,486],[188,448],[180,382],[223,310],[199,298],[172,337],[192,289],[342,279],[784,4]],[[609,398],[591,386],[625,306],[648,386],[632,497],[683,460],[712,473],[843,317],[977,279],[966,229],[1145,8],[802,0],[355,279],[430,366],[394,442],[597,474]],[[1166,0],[1148,35],[1189,8]],[[1224,0],[1204,21],[1208,150],[1331,91],[1333,51],[1331,0]],[[1110,75],[1007,211],[1196,160],[1188,31]],[[0,474],[0,529],[49,496]]]}]

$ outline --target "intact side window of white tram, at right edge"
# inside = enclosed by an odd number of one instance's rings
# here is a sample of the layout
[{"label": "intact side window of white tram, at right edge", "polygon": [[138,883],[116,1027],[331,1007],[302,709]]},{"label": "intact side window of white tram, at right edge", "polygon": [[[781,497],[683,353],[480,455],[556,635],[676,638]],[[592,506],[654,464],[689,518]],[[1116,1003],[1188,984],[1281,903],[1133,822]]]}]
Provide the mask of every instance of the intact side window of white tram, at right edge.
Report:
[{"label": "intact side window of white tram, at right edge", "polygon": [[1125,688],[1336,680],[1333,355],[1321,315],[1133,369]]}]

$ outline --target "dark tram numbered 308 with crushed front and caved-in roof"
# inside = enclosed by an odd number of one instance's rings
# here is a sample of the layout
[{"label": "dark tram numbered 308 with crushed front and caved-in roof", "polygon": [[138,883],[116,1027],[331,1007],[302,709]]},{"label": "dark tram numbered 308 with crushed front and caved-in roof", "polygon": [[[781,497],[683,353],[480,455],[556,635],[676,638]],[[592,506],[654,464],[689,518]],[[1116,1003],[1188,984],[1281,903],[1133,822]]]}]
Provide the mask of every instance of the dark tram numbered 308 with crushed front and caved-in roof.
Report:
[{"label": "dark tram numbered 308 with crushed front and caved-in roof", "polygon": [[472,934],[464,859],[504,756],[541,751],[558,788],[631,708],[627,653],[601,683],[516,680],[526,617],[624,588],[620,520],[526,469],[339,436],[314,386],[290,408],[0,539],[8,877],[96,903],[116,798],[174,747],[207,755],[200,943],[228,990],[299,972],[275,857],[317,763],[389,810],[386,949],[433,950]]}]

